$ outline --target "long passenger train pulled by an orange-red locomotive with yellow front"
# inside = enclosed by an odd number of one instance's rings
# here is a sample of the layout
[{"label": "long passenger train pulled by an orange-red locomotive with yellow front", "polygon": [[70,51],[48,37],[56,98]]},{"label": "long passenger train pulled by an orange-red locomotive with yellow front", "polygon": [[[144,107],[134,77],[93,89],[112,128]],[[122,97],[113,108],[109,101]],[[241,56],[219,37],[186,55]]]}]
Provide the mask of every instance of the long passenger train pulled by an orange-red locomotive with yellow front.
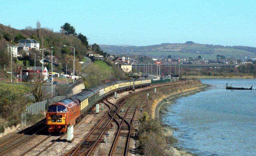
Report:
[{"label": "long passenger train pulled by an orange-red locomotive with yellow front", "polygon": [[[150,78],[138,78],[134,81],[134,88],[150,86]],[[46,124],[48,132],[66,132],[68,126],[75,125],[92,108],[102,100],[113,96],[115,92],[132,90],[133,80],[119,80],[86,88],[64,100],[48,106]]]}]

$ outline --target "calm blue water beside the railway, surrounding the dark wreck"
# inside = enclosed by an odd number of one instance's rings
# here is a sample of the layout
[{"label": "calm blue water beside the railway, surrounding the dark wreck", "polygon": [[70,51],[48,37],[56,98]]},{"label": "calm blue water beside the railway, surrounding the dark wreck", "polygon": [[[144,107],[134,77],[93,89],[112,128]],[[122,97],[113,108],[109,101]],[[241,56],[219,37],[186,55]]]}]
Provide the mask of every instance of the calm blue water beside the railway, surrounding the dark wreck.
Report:
[{"label": "calm blue water beside the railway, surrounding the dark wreck", "polygon": [[199,156],[256,156],[256,80],[201,80],[211,87],[179,98],[162,122],[174,130],[176,146]]}]

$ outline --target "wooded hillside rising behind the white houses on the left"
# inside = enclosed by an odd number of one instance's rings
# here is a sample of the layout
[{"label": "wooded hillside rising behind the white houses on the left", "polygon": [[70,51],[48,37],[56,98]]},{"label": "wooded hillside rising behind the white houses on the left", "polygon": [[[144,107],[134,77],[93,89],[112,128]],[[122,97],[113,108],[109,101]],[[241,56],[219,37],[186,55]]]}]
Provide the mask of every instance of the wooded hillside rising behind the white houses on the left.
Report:
[{"label": "wooded hillside rising behind the white houses on the left", "polygon": [[[77,73],[82,69],[80,67],[81,64],[79,63],[79,61],[83,60],[83,58],[86,56],[87,47],[81,42],[78,36],[66,35],[61,32],[53,32],[49,28],[40,28],[40,26],[37,26],[37,28],[32,28],[31,26],[28,26],[25,29],[17,30],[11,28],[10,26],[4,26],[0,24],[0,52],[3,53],[5,50],[3,46],[5,45],[4,42],[16,44],[18,40],[26,38],[38,41],[40,43],[41,49],[53,47],[52,49],[49,48],[47,50],[44,50],[44,57],[51,55],[52,50],[53,56],[58,59],[58,63],[54,64],[54,72],[61,73],[62,71],[66,70],[66,62],[69,62],[67,68],[72,68],[73,61],[70,60],[73,60],[74,51],[71,47],[75,47],[75,66],[77,68],[75,72]],[[63,47],[63,45],[71,47]],[[42,50],[35,53],[42,54]],[[30,55],[30,57],[33,57],[33,55]],[[42,66],[41,63],[38,63],[40,58],[37,59],[38,60],[36,61],[36,66]],[[34,58],[30,58],[30,60],[33,61]],[[32,64],[34,64],[34,62],[32,62]],[[0,68],[3,67],[1,66]]]}]

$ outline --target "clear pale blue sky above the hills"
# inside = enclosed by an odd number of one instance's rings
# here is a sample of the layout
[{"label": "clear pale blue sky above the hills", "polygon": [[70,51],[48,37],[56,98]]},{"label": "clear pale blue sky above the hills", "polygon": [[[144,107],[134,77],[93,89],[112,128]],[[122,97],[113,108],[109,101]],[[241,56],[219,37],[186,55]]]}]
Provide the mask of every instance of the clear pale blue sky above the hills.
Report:
[{"label": "clear pale blue sky above the hills", "polygon": [[0,23],[60,31],[89,44],[185,43],[256,47],[256,0],[1,0]]}]

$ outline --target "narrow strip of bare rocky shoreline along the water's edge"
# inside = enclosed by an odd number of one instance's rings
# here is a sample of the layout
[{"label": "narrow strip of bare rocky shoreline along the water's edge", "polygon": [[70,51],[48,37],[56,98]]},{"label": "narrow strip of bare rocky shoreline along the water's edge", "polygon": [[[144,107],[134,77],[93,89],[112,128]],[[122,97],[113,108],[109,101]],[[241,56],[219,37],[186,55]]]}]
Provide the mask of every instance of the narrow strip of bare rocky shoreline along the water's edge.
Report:
[{"label": "narrow strip of bare rocky shoreline along the water's edge", "polygon": [[[208,85],[206,84],[201,84],[201,85],[197,85],[195,87],[192,88],[188,88],[186,90],[181,90],[181,92],[176,92],[176,94],[172,94],[170,96],[167,96],[166,98],[162,98],[162,100],[158,100],[158,104],[154,110],[155,112],[155,118],[158,118],[160,121],[162,120],[162,112],[160,110],[163,110],[166,106],[168,106],[169,104],[172,103],[173,100],[180,98],[182,96],[188,96],[188,95],[192,95],[195,94],[197,92],[206,90],[206,88],[208,88]],[[166,95],[165,95],[166,96]],[[167,102],[166,102],[166,101]],[[164,136],[166,136],[168,138],[168,140],[170,140],[169,142],[174,143],[177,142],[176,138],[174,138],[172,129],[170,126],[167,125],[163,125],[164,128]],[[174,147],[172,145],[170,145],[170,149],[169,149],[170,153],[174,156],[195,156],[195,154],[192,154],[190,152],[187,152],[186,150]]]}]

